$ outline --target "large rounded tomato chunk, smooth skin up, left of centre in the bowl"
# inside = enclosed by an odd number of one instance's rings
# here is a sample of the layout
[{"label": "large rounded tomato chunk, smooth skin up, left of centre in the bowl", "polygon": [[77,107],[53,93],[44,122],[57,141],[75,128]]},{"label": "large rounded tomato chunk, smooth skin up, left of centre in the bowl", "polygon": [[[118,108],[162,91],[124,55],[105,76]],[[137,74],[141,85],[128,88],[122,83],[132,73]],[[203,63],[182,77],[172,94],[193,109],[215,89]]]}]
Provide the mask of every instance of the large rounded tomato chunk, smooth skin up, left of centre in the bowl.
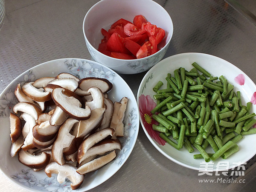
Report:
[{"label": "large rounded tomato chunk, smooth skin up, left of centre in the bowl", "polygon": [[107,50],[111,52],[122,52],[129,54],[128,49],[125,48],[125,39],[122,38],[117,33],[113,33],[108,42],[107,42]]}]

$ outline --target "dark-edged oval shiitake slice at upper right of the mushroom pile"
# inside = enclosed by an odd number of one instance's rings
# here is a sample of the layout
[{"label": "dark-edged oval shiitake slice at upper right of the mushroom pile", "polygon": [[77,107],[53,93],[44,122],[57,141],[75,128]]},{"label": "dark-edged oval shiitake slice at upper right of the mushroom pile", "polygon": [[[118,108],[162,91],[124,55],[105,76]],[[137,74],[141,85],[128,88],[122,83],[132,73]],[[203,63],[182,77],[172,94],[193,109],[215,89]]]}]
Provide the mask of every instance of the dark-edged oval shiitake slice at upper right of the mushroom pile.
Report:
[{"label": "dark-edged oval shiitake slice at upper right of the mushroom pile", "polygon": [[106,93],[112,89],[113,84],[108,79],[99,77],[86,77],[79,81],[79,88],[81,90],[88,90],[90,87],[98,87],[102,93]]}]

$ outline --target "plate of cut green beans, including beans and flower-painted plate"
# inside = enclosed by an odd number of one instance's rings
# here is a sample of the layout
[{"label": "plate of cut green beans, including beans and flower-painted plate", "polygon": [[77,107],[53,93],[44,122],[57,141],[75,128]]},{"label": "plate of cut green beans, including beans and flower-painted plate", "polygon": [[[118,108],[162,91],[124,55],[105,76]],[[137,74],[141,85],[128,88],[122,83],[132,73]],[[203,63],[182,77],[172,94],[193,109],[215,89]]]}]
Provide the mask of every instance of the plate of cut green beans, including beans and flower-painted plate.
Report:
[{"label": "plate of cut green beans, including beans and flower-painted plate", "polygon": [[256,154],[256,85],[224,59],[204,53],[163,59],[145,74],[137,103],[148,140],[181,166],[224,171]]}]

